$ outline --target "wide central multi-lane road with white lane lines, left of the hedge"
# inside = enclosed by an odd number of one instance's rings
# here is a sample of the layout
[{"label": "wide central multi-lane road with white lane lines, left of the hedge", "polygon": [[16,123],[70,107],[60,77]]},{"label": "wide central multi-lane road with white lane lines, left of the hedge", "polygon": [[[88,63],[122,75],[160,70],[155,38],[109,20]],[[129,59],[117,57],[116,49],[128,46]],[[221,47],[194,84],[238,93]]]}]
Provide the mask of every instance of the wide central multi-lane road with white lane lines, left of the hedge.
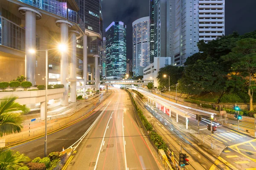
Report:
[{"label": "wide central multi-lane road with white lane lines, left of the hedge", "polygon": [[105,101],[64,170],[157,170],[157,162],[137,125],[131,99],[120,89]]}]

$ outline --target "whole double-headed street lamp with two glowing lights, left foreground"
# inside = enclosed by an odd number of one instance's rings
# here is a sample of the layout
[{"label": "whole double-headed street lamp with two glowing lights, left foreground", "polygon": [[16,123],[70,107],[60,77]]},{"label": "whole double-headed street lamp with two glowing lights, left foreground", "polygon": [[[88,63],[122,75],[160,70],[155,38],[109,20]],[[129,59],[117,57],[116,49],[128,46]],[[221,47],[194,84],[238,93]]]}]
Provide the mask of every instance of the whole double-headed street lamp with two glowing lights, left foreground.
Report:
[{"label": "whole double-headed street lamp with two glowing lights, left foreground", "polygon": [[57,48],[51,48],[46,50],[29,49],[29,53],[35,53],[36,51],[45,51],[45,137],[44,137],[44,156],[47,156],[47,91],[48,91],[48,51],[58,49],[61,52],[67,51],[67,45],[59,44]]}]

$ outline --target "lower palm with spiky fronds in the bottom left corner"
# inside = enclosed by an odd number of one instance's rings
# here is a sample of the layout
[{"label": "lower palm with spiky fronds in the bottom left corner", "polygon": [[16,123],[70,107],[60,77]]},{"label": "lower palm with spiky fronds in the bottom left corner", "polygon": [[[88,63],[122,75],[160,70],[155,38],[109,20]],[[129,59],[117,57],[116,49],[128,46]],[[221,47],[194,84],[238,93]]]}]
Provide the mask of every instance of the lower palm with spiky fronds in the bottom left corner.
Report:
[{"label": "lower palm with spiky fronds in the bottom left corner", "polygon": [[0,170],[18,170],[30,161],[29,157],[7,147],[0,148]]}]

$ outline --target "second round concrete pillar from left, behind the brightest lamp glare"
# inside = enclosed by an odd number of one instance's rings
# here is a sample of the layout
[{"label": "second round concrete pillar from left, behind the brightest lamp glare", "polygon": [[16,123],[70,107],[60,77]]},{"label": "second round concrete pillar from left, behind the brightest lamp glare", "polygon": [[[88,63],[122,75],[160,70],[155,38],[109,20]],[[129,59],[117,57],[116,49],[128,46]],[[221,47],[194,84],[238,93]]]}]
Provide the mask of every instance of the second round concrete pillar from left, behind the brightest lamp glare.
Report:
[{"label": "second round concrete pillar from left, behind the brightest lamp glare", "polygon": [[[72,28],[72,24],[65,20],[57,20],[56,25],[61,28],[61,44],[68,44],[68,28]],[[61,84],[64,85],[65,92],[61,97],[61,105],[68,105],[68,51],[61,52]]]}]

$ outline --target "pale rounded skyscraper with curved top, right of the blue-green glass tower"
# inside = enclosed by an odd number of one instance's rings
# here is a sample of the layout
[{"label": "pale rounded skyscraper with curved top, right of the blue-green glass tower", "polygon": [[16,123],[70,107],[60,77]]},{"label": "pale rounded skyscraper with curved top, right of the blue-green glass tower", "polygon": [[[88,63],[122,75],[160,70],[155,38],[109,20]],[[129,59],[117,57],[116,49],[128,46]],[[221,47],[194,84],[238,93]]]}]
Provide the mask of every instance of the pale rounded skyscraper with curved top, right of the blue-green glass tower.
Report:
[{"label": "pale rounded skyscraper with curved top, right of the blue-green glass tower", "polygon": [[[149,65],[150,20],[143,17],[132,23],[133,27],[133,70]],[[142,76],[142,75],[141,75]]]}]

